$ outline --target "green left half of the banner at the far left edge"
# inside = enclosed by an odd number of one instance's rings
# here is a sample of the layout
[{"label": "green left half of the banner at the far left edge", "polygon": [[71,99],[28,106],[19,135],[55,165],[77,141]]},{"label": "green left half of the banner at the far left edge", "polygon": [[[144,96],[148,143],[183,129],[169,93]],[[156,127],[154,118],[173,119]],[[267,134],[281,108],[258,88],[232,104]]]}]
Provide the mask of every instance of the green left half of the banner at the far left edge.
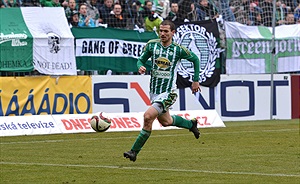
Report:
[{"label": "green left half of the banner at the far left edge", "polygon": [[32,71],[32,44],[21,9],[0,8],[0,71]]}]

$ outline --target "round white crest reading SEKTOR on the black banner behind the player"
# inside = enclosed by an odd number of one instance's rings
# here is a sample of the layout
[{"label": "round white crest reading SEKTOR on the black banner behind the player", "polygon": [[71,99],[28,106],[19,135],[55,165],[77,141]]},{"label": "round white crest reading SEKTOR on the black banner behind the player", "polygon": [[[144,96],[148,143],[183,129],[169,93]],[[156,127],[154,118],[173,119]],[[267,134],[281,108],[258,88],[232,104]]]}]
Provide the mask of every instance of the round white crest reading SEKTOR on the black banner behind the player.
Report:
[{"label": "round white crest reading SEKTOR on the black banner behind the player", "polygon": [[[217,48],[217,39],[213,33],[196,24],[184,24],[177,27],[174,41],[194,52],[200,60],[199,82],[205,82],[212,77],[215,70],[216,58],[220,57],[222,49]],[[194,75],[193,63],[181,60],[178,74],[192,82]]]}]

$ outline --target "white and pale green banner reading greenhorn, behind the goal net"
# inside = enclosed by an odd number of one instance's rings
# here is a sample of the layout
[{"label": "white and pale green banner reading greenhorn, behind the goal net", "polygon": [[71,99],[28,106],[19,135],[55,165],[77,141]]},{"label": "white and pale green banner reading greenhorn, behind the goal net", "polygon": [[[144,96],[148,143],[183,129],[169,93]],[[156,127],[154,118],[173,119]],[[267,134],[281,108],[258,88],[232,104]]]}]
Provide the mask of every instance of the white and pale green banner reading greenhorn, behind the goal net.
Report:
[{"label": "white and pale green banner reading greenhorn, behind the goal net", "polygon": [[270,27],[226,22],[225,30],[227,74],[281,73],[300,70],[299,24],[275,27],[274,43]]}]

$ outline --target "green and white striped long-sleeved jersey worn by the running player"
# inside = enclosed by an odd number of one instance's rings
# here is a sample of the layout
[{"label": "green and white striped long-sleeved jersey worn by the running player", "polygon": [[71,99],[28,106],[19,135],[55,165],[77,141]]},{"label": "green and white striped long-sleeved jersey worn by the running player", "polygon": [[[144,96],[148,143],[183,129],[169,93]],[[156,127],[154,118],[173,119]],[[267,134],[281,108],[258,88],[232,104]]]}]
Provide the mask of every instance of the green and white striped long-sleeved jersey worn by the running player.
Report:
[{"label": "green and white striped long-sleeved jersey worn by the running player", "polygon": [[176,89],[177,68],[181,59],[194,64],[193,81],[199,81],[199,58],[187,48],[172,42],[164,47],[160,39],[150,40],[137,62],[138,69],[151,58],[150,93],[160,94]]}]

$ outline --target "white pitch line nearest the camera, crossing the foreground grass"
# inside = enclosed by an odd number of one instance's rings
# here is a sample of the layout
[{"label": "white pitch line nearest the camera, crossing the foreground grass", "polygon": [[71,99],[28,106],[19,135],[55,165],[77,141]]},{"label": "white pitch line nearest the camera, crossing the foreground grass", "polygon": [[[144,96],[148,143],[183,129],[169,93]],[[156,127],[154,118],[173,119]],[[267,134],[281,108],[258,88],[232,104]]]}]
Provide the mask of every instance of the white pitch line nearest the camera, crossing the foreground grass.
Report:
[{"label": "white pitch line nearest the camera, crossing the foreground grass", "polygon": [[[153,167],[123,167],[108,165],[75,165],[75,164],[49,164],[49,163],[17,163],[17,162],[0,162],[2,165],[32,165],[32,166],[51,166],[51,167],[83,167],[83,168],[106,168],[106,169],[123,169],[123,170],[145,170],[145,171],[169,171],[169,172],[192,172],[192,173],[208,173],[208,174],[231,174],[231,175],[256,175],[256,176],[276,176],[276,177],[300,177],[296,174],[271,174],[257,172],[229,172],[229,171],[208,171],[196,169],[167,169]],[[3,167],[2,167],[3,168]]]}]

